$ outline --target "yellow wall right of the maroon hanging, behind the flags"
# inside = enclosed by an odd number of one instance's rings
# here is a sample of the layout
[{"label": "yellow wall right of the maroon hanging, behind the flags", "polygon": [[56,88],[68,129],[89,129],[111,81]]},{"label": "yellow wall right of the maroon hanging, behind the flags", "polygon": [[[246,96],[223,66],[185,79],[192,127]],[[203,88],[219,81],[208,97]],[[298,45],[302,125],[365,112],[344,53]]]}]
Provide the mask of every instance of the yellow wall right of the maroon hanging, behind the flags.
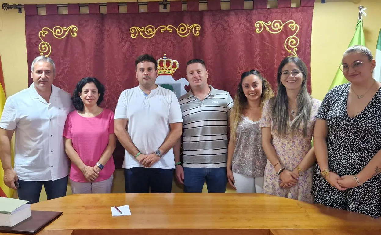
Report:
[{"label": "yellow wall right of the maroon hanging, behind the flags", "polygon": [[315,1],[312,21],[312,95],[322,100],[340,65],[344,51],[355,32],[359,5],[367,8],[363,17],[365,45],[376,52],[381,27],[381,0]]}]

